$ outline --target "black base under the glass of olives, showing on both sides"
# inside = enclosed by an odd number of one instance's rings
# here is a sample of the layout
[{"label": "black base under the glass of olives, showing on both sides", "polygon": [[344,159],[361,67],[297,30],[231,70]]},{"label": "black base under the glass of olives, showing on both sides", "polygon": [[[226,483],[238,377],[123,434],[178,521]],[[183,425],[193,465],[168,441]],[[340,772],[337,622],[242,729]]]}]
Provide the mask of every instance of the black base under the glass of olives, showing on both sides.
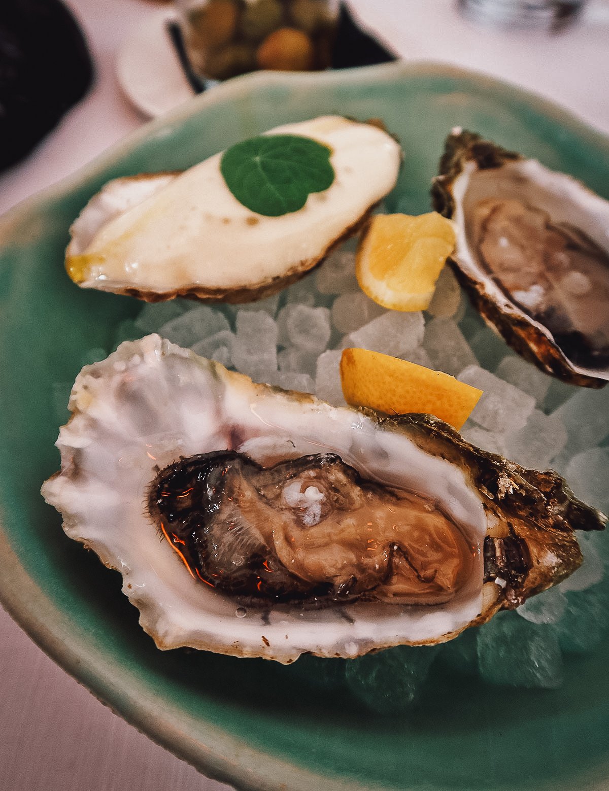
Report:
[{"label": "black base under the glass of olives, showing on both sides", "polygon": [[[1,2],[1,0],[0,0]],[[193,69],[184,46],[182,31],[177,22],[169,21],[167,30],[176,49],[180,66],[195,93],[206,89],[206,81]],[[333,69],[348,69],[352,66],[372,66],[397,60],[397,55],[380,44],[370,33],[357,25],[345,3],[341,3],[335,44],[331,55]]]}]

